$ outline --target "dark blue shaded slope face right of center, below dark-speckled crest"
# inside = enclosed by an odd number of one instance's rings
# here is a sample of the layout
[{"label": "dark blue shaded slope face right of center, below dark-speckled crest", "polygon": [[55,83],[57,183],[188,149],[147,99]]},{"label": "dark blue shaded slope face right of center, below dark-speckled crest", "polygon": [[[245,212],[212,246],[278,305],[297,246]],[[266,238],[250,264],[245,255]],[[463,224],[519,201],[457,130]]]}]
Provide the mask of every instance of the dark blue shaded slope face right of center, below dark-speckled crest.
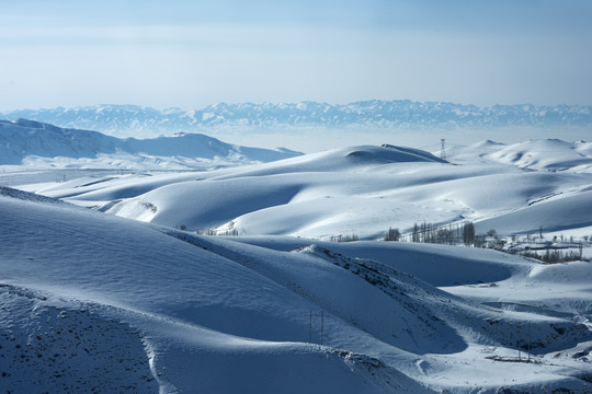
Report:
[{"label": "dark blue shaded slope face right of center, below dark-speckled crest", "polygon": [[[403,292],[408,286],[400,288],[394,278],[360,262],[334,258],[327,250],[320,251],[319,255],[315,246],[298,251],[304,254],[267,251],[263,254],[246,246],[237,251],[237,245],[231,243],[223,243],[224,247],[220,247],[219,242],[203,237],[187,239],[185,235],[184,239],[292,289],[331,316],[358,326],[384,343],[417,354],[449,354],[466,348],[464,340],[444,322],[426,312],[421,302],[411,301],[410,294]],[[329,262],[326,260],[328,256]],[[364,297],[357,298],[358,294]]]}]

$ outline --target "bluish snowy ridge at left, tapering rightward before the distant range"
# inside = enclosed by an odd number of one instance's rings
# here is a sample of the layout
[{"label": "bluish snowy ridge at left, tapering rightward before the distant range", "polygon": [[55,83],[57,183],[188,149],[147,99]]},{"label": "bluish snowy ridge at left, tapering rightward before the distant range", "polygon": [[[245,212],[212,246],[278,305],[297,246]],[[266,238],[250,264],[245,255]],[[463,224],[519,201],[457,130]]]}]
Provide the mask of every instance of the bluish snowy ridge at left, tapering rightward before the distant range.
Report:
[{"label": "bluish snowy ridge at left, tapering rightward before the distant range", "polygon": [[118,139],[34,120],[0,120],[0,165],[186,170],[270,162],[299,154],[287,149],[229,144],[201,134]]}]

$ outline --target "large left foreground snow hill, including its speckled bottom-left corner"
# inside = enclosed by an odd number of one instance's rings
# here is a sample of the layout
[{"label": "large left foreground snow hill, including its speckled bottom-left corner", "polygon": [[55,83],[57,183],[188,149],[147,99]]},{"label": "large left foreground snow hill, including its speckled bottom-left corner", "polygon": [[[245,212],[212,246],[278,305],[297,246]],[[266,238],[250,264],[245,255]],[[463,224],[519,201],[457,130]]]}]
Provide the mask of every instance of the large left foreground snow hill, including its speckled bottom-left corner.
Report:
[{"label": "large left foreground snow hill, including its speckled bottom-left corner", "polygon": [[317,305],[241,264],[67,205],[0,205],[8,391],[426,392],[379,360],[306,344]]}]

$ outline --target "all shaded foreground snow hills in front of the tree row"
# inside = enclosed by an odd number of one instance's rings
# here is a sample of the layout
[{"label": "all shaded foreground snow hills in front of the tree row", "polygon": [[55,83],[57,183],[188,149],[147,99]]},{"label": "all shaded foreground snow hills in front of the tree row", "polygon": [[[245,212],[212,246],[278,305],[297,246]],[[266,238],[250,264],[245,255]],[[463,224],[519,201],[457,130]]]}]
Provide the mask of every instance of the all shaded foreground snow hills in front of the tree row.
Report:
[{"label": "all shaded foreground snow hills in front of the tree row", "polygon": [[[4,390],[589,389],[582,265],[435,245],[207,237],[0,190]],[[469,251],[475,268],[464,274]],[[412,262],[413,276],[403,270]],[[453,271],[465,286],[435,287],[454,285]],[[570,291],[536,300],[554,287]],[[526,327],[536,363],[516,359]]]}]

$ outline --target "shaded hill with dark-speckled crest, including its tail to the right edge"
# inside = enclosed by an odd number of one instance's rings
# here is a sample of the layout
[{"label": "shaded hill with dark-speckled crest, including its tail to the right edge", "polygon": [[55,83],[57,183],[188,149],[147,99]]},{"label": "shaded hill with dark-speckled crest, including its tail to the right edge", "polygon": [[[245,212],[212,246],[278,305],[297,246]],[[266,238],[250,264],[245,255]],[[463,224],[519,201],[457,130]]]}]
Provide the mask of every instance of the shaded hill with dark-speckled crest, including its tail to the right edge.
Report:
[{"label": "shaded hill with dark-speckled crest, including its tail to the right edge", "polygon": [[[295,251],[298,254],[294,256],[285,252],[265,251],[263,254],[259,248],[237,247],[231,242],[189,237],[182,233],[178,236],[295,289],[331,315],[362,327],[387,344],[414,354],[459,352],[467,347],[465,340],[475,340],[475,337],[487,337],[493,344],[511,347],[517,340],[516,327],[526,326],[527,323],[533,326],[533,350],[561,347],[561,343],[569,346],[574,339],[590,338],[584,325],[540,317],[532,322],[532,317],[520,313],[482,309],[391,266],[351,258],[317,245],[298,248]],[[391,265],[397,264],[397,259]],[[335,269],[335,266],[341,269]],[[323,286],[327,277],[331,277],[331,282]],[[350,299],[351,294],[361,293],[365,294],[362,308],[360,300]],[[385,301],[385,296],[389,301]],[[343,305],[344,301],[348,306]],[[464,337],[458,335],[463,332],[460,327],[467,326],[471,327],[470,334],[464,333]],[[563,336],[566,333],[569,334]]]}]

